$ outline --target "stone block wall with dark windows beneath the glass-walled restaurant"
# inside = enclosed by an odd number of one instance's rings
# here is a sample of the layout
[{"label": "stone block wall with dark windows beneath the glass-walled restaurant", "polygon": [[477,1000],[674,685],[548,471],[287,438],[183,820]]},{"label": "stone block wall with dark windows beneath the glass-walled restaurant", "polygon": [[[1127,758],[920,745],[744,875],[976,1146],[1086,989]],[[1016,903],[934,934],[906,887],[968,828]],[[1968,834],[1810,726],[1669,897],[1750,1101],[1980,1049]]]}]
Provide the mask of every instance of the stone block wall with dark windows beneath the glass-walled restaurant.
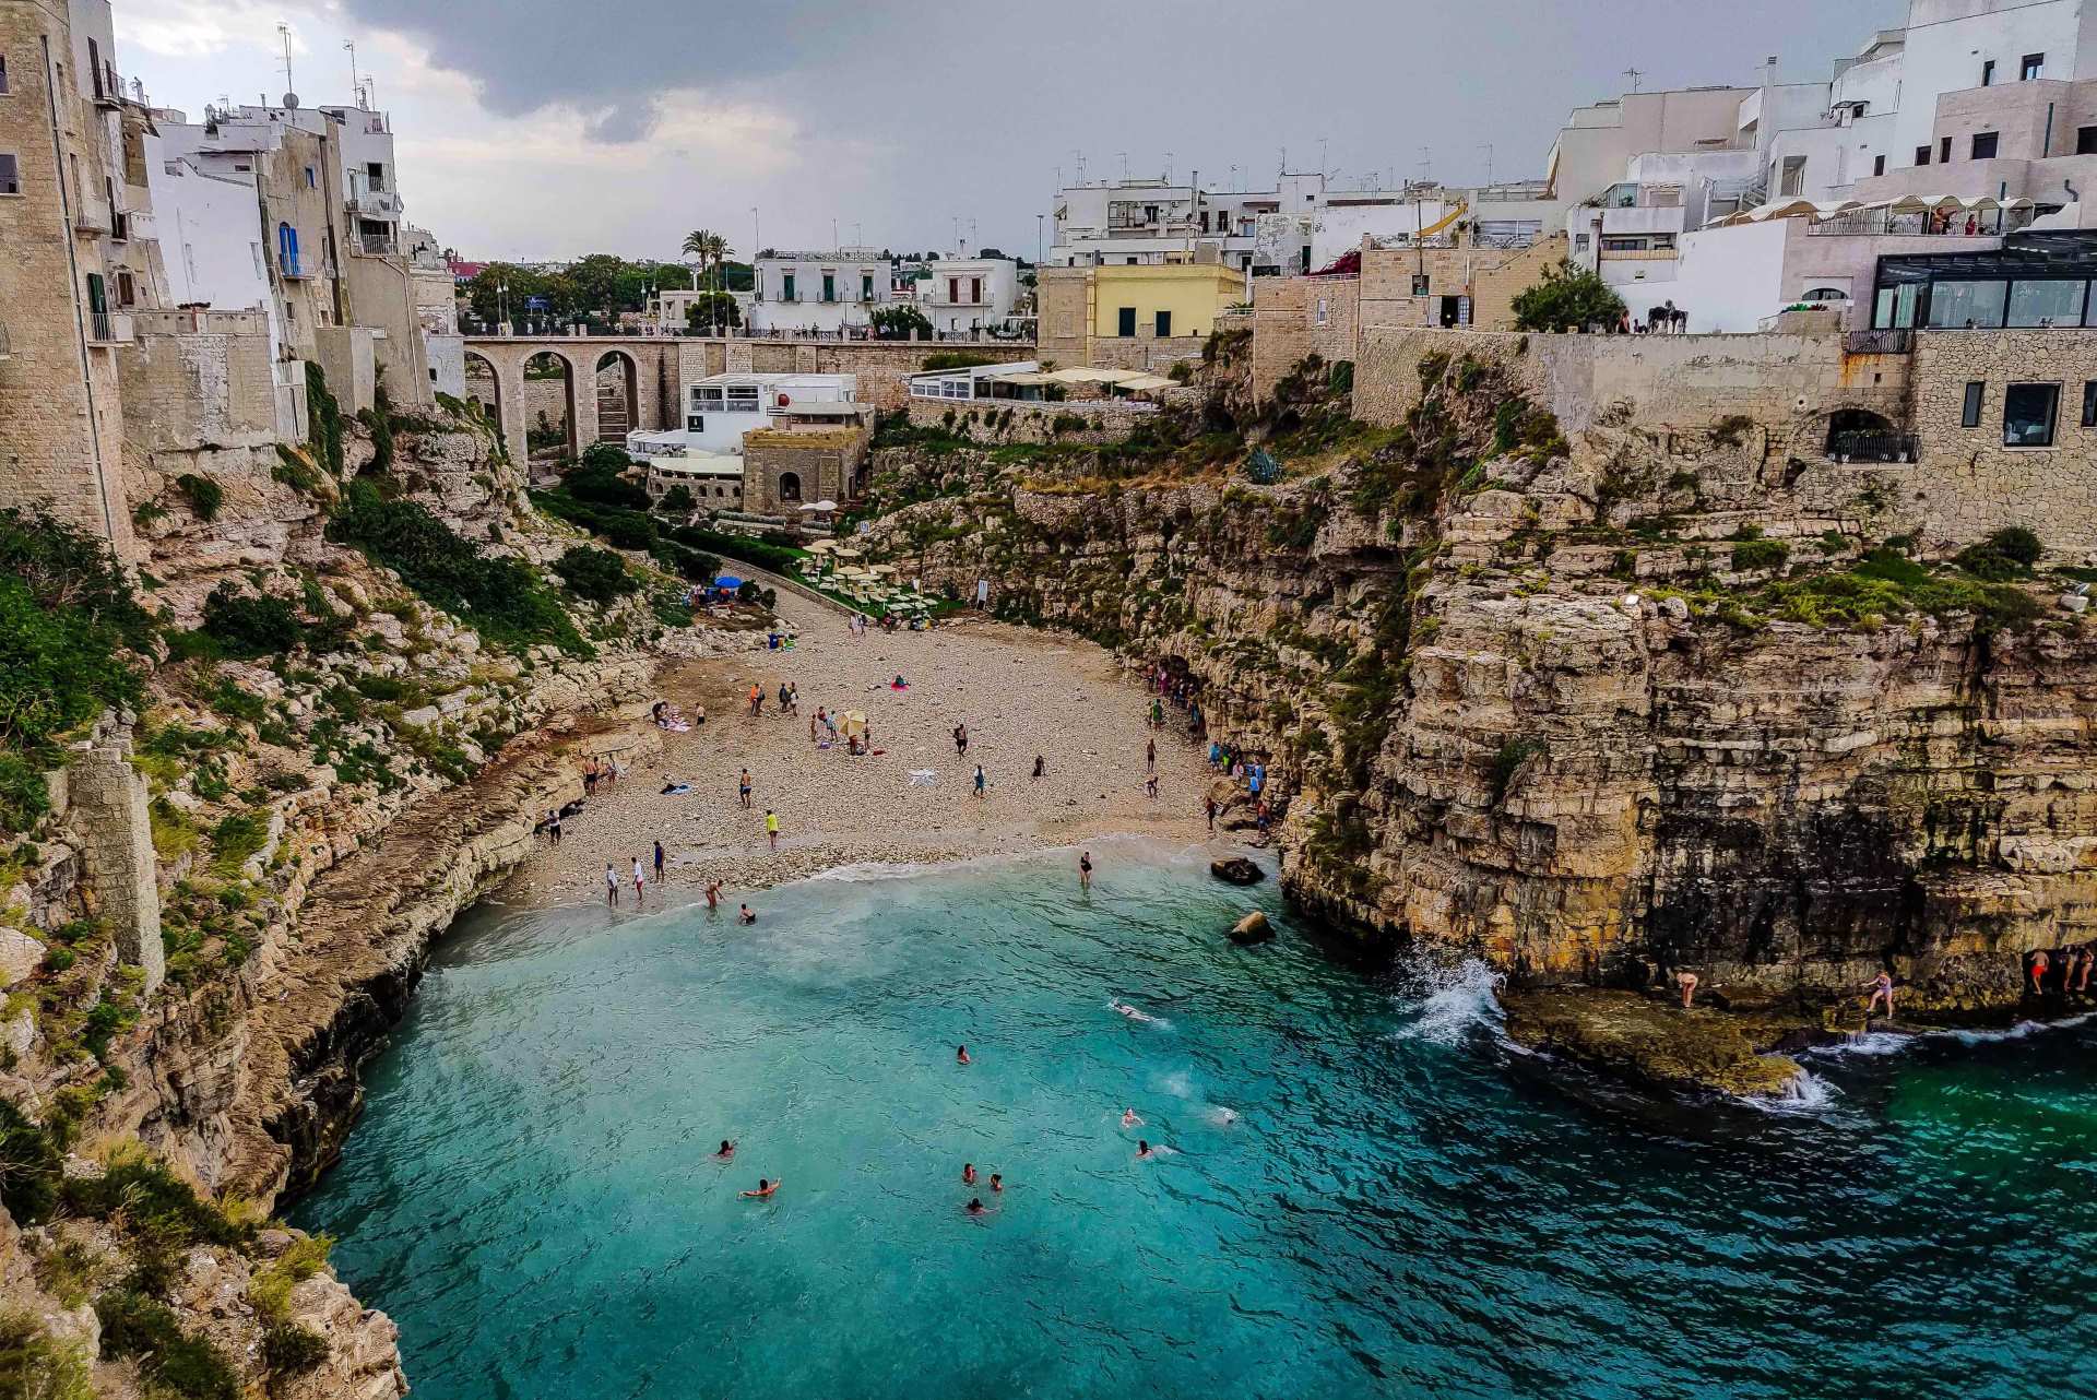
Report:
[{"label": "stone block wall with dark windows beneath the glass-walled restaurant", "polygon": [[[1923,331],[1915,344],[1915,511],[1929,543],[2028,526],[2049,549],[2097,553],[2097,428],[2082,425],[2097,381],[2097,335],[2061,331]],[[1967,384],[1982,384],[1980,423],[1965,425]],[[2057,384],[2053,446],[2003,446],[2011,384]]]}]

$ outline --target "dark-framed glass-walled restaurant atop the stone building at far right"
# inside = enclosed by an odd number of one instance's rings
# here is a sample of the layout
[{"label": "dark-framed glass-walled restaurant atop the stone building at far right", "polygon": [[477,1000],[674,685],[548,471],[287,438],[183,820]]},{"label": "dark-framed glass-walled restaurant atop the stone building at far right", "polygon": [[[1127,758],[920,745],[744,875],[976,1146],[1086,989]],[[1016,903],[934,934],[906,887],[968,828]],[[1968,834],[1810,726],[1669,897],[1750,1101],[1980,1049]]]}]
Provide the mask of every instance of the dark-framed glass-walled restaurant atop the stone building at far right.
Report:
[{"label": "dark-framed glass-walled restaurant atop the stone building at far right", "polygon": [[2097,233],[2013,233],[2003,247],[1879,258],[1873,329],[2097,325]]}]

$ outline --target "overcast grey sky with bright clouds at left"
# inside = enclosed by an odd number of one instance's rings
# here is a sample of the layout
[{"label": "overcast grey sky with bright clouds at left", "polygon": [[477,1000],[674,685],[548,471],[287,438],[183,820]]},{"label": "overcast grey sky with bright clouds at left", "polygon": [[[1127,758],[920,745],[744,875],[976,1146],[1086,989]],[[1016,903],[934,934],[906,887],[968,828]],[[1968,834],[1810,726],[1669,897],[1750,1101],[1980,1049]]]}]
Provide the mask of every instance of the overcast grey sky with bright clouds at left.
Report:
[{"label": "overcast grey sky with bright clouds at left", "polygon": [[[283,92],[392,111],[409,220],[466,258],[1002,247],[1061,170],[1267,184],[1539,176],[1566,111],[1824,80],[1904,0],[115,0],[117,63],[197,117]],[[1426,155],[1422,157],[1422,149]],[[1491,151],[1489,151],[1491,149]],[[757,207],[753,233],[751,207]],[[973,235],[971,235],[973,228]],[[956,233],[958,231],[958,233]]]}]

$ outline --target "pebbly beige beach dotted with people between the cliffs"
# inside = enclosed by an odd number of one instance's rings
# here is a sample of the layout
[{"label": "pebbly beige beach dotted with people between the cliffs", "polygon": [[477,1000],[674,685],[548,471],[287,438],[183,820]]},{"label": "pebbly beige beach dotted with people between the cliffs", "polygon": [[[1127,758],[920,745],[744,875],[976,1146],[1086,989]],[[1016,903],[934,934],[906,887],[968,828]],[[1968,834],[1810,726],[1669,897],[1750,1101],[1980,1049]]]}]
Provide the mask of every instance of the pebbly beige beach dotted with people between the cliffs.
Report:
[{"label": "pebbly beige beach dotted with people between the cliffs", "polygon": [[[652,861],[663,843],[667,887],[648,907],[698,897],[721,880],[728,899],[837,866],[948,861],[1059,847],[1109,834],[1183,845],[1208,840],[1204,803],[1212,775],[1206,748],[1166,706],[1166,727],[1147,723],[1149,694],[1116,660],[1084,641],[967,620],[929,633],[853,637],[845,618],[780,593],[780,618],[799,631],[793,650],[738,652],[677,662],[661,694],[705,706],[688,734],[644,727],[577,744],[572,759],[617,752],[625,778],[600,788],[585,811],[562,824],[503,887],[505,903],[602,903],[604,866],[629,882],[633,857]],[[902,675],[910,685],[889,690]],[[763,715],[749,715],[749,687],[765,690]],[[801,694],[799,715],[780,715],[782,681]],[[849,757],[843,744],[809,742],[818,706],[862,710],[879,754]],[[646,723],[646,721],[644,721]],[[967,759],[952,729],[969,727]],[[1145,744],[1158,740],[1158,796],[1145,794]],[[1034,757],[1046,773],[1032,778]],[[975,799],[981,763],[988,792]],[[751,771],[751,807],[738,778]],[[931,769],[931,784],[910,780]],[[690,784],[663,794],[665,778]],[[765,809],[780,817],[778,851],[765,838]],[[1216,849],[1237,847],[1218,834]],[[738,893],[740,891],[740,893]],[[631,889],[621,891],[631,905]]]}]

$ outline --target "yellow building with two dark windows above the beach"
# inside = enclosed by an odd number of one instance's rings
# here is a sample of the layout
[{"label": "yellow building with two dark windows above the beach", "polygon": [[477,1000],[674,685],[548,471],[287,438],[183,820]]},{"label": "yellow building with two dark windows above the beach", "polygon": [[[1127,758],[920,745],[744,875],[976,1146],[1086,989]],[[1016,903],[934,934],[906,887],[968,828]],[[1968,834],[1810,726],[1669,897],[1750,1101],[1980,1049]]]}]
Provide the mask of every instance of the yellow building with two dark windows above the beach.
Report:
[{"label": "yellow building with two dark windows above the beach", "polygon": [[1216,314],[1246,300],[1214,262],[1042,268],[1040,358],[1061,367],[1168,369],[1202,354]]}]

